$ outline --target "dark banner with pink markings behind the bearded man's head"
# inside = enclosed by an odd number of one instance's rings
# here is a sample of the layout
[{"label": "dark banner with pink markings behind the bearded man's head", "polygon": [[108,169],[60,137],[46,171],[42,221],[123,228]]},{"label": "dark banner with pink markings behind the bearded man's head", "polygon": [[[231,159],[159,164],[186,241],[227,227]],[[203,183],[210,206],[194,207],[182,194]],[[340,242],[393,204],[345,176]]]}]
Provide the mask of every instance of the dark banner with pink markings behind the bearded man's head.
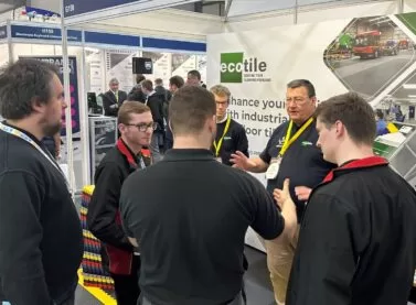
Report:
[{"label": "dark banner with pink markings behind the bearded man's head", "polygon": [[[58,67],[58,77],[64,84],[63,77],[63,58],[62,56],[22,56],[21,58],[32,58],[42,62],[46,62]],[[71,92],[71,120],[72,120],[72,133],[79,132],[79,100],[78,100],[78,75],[76,67],[76,57],[70,56],[70,92]],[[62,113],[62,131],[61,135],[65,137],[65,112]]]}]

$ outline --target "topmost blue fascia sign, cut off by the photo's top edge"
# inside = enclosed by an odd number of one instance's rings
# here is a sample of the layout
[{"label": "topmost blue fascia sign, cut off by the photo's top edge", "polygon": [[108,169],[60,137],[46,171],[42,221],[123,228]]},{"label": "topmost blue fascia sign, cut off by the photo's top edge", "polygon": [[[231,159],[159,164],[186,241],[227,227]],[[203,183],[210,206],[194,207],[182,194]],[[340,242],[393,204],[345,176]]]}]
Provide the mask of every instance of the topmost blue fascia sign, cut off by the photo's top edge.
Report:
[{"label": "topmost blue fascia sign, cut off by the photo's top edge", "polygon": [[117,6],[140,2],[142,0],[64,0],[64,17],[90,13]]}]

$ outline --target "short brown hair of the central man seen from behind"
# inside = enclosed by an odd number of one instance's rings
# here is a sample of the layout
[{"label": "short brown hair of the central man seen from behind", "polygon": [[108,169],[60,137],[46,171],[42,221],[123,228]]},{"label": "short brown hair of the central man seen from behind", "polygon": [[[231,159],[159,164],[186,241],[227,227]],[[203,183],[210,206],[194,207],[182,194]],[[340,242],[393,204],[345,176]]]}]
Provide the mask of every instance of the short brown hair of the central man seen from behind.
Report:
[{"label": "short brown hair of the central man seen from behind", "polygon": [[173,134],[198,134],[216,112],[214,95],[200,86],[185,86],[173,96],[169,117]]}]

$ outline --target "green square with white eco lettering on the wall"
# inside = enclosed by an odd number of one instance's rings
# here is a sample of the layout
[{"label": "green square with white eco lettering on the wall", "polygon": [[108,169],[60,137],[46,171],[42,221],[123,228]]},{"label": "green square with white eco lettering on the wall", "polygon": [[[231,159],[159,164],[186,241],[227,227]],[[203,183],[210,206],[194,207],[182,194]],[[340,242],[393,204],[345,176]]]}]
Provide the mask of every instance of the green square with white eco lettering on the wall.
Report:
[{"label": "green square with white eco lettering on the wall", "polygon": [[221,54],[221,83],[243,83],[244,53]]}]

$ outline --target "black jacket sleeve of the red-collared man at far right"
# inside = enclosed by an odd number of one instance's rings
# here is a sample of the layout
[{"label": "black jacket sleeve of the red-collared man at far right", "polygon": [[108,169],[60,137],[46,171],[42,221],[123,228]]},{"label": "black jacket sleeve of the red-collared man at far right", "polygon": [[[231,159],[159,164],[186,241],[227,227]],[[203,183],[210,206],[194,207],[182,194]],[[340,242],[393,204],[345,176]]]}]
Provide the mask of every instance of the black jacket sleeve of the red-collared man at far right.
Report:
[{"label": "black jacket sleeve of the red-collared man at far right", "polygon": [[309,305],[311,299],[320,305],[352,304],[355,249],[371,233],[356,221],[359,211],[345,201],[316,195],[308,205],[286,304]]}]

